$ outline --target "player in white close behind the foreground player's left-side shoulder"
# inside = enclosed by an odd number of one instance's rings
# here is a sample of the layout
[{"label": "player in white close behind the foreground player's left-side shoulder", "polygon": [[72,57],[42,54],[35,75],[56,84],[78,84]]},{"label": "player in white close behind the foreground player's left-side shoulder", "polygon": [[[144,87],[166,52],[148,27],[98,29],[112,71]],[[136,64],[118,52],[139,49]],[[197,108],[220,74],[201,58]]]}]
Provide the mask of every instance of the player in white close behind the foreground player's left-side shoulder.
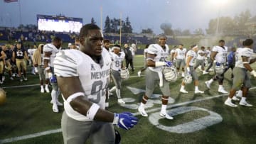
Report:
[{"label": "player in white close behind the foreground player's left-side shoulder", "polygon": [[58,101],[58,84],[53,70],[53,61],[55,60],[56,54],[61,49],[62,40],[58,37],[53,38],[53,43],[48,43],[43,46],[43,66],[46,69],[48,77],[50,79],[50,84],[53,86],[50,103],[53,104],[53,112],[58,113],[58,106],[63,104]]}]

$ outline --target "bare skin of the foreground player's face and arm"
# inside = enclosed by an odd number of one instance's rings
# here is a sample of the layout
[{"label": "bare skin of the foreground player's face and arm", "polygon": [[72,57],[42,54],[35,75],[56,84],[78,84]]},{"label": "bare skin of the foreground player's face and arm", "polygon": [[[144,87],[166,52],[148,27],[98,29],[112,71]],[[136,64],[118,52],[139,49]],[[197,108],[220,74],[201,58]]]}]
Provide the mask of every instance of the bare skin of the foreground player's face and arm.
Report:
[{"label": "bare skin of the foreground player's face and arm", "polygon": [[[103,35],[100,30],[89,30],[85,37],[80,38],[80,50],[90,55],[92,60],[97,62],[102,54],[102,40]],[[71,94],[84,92],[79,77],[57,77],[57,80],[58,87],[60,87],[60,91],[65,99],[68,99]],[[90,106],[92,106],[92,102],[90,102],[86,96],[78,96],[70,102],[70,106],[72,106],[75,111],[78,111],[78,113],[86,116],[87,111],[90,109]],[[114,113],[105,111],[104,109],[99,109],[94,118],[96,121],[105,122],[112,122],[113,119]]]}]

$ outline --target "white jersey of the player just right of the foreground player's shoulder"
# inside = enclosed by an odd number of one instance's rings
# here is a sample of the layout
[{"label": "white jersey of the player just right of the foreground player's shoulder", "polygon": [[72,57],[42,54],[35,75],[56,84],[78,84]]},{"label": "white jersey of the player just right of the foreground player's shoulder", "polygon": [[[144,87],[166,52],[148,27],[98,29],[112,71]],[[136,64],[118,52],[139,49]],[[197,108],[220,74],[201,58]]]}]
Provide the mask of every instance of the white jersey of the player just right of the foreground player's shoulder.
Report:
[{"label": "white jersey of the player just right of the foreground player's shoulder", "polygon": [[125,57],[124,52],[119,52],[119,55],[115,54],[114,52],[110,52],[110,57],[112,60],[111,69],[115,71],[121,70],[121,64]]}]

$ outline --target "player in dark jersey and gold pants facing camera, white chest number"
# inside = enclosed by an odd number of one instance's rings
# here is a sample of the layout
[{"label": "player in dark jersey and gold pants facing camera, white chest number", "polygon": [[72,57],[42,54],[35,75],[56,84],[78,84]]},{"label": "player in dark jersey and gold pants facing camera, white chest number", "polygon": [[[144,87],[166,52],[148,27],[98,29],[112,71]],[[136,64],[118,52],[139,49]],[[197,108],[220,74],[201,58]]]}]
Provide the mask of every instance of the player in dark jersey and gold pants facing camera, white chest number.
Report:
[{"label": "player in dark jersey and gold pants facing camera, white chest number", "polygon": [[21,82],[23,81],[23,79],[21,77],[21,70],[23,70],[24,80],[25,81],[28,80],[26,77],[25,58],[26,58],[26,60],[29,60],[26,50],[22,47],[21,43],[16,43],[16,48],[14,48],[14,51],[13,51],[12,61],[16,62],[16,65],[18,67],[18,76],[20,77]]}]

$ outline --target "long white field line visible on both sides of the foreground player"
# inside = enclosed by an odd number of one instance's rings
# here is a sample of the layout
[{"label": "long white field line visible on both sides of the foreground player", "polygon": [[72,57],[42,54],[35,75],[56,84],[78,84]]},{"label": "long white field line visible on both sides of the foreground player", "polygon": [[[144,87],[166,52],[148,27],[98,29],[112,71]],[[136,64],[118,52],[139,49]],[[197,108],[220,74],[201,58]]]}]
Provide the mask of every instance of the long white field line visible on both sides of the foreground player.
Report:
[{"label": "long white field line visible on both sides of the foreground player", "polygon": [[[252,87],[250,88],[251,89],[256,89],[256,87]],[[210,97],[206,97],[206,98],[202,98],[202,99],[196,99],[196,100],[193,100],[193,101],[186,101],[186,102],[182,102],[182,103],[179,103],[179,104],[173,104],[171,106],[167,106],[167,109],[170,109],[170,108],[173,108],[173,107],[177,107],[177,106],[183,106],[183,105],[186,105],[186,104],[192,104],[192,103],[195,103],[195,102],[200,102],[200,101],[205,101],[205,100],[208,100],[208,99],[215,99],[215,98],[218,98],[218,97],[221,97],[221,96],[228,96],[228,94],[220,94],[220,95],[217,95],[217,96],[210,96]],[[154,112],[154,111],[159,111],[161,108],[155,108],[155,109],[150,109],[146,112]],[[137,113],[134,113],[134,116],[139,116],[140,113],[137,112]],[[41,133],[33,133],[33,134],[30,134],[30,135],[23,135],[23,136],[18,136],[18,137],[14,137],[14,138],[6,138],[4,140],[0,140],[0,143],[11,143],[11,142],[14,142],[14,141],[18,141],[18,140],[25,140],[25,139],[28,139],[28,138],[36,138],[36,137],[39,137],[39,136],[42,136],[42,135],[49,135],[49,134],[52,134],[52,133],[60,133],[61,132],[61,129],[55,129],[55,130],[50,130],[50,131],[43,131]]]}]

